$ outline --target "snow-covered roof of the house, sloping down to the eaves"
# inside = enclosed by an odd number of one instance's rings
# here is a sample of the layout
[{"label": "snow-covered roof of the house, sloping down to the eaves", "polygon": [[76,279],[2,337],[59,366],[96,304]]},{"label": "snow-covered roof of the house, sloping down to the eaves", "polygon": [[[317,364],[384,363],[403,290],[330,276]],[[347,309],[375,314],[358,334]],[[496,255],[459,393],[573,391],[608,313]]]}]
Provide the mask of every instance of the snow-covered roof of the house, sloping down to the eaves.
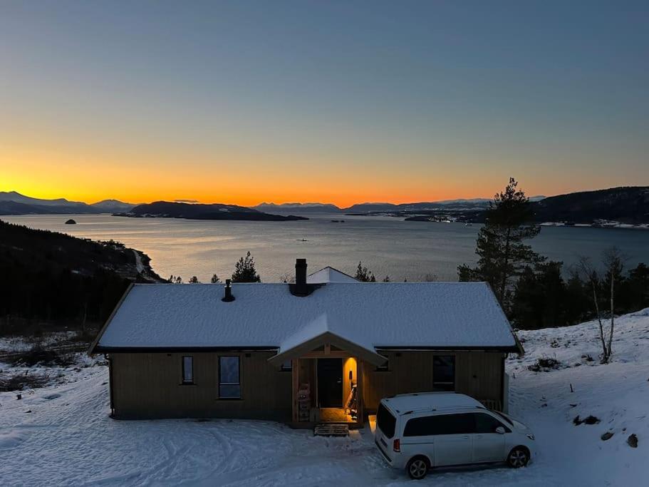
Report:
[{"label": "snow-covered roof of the house, sloping down to the eaves", "polygon": [[289,284],[135,284],[91,352],[261,348],[323,334],[365,349],[503,349],[512,329],[483,282],[333,282],[306,297]]}]

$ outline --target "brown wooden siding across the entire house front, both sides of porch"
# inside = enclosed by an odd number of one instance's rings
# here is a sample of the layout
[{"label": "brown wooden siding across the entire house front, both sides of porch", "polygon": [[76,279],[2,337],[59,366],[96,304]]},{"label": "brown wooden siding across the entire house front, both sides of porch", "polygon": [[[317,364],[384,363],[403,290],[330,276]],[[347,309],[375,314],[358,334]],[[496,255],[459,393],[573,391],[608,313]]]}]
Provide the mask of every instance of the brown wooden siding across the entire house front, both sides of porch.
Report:
[{"label": "brown wooden siding across the entire house front, both sides of porch", "polygon": [[[194,384],[182,384],[182,357],[194,357]],[[314,359],[295,360],[294,373],[268,362],[273,352],[110,354],[111,397],[118,418],[213,417],[293,420],[294,388],[312,387],[316,406]],[[357,359],[360,408],[372,414],[385,396],[432,390],[432,358],[455,355],[455,390],[502,407],[504,354],[499,352],[386,352],[388,371]],[[242,399],[219,399],[219,356],[240,360]],[[351,362],[343,368],[349,380]],[[295,384],[294,384],[295,382]],[[343,401],[349,389],[343,386]]]}]

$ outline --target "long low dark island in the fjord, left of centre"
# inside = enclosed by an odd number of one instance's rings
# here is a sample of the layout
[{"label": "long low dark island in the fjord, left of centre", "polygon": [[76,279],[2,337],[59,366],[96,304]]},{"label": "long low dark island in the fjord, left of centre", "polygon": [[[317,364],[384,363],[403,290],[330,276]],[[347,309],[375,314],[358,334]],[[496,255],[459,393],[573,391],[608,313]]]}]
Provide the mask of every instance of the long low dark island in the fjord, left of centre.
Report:
[{"label": "long low dark island in the fjord, left of centre", "polygon": [[115,215],[126,217],[187,218],[188,220],[263,220],[274,222],[308,220],[308,218],[293,215],[270,215],[269,213],[237,205],[222,205],[220,203],[199,205],[169,201],[156,201],[145,205],[137,205],[128,212],[115,213]]}]

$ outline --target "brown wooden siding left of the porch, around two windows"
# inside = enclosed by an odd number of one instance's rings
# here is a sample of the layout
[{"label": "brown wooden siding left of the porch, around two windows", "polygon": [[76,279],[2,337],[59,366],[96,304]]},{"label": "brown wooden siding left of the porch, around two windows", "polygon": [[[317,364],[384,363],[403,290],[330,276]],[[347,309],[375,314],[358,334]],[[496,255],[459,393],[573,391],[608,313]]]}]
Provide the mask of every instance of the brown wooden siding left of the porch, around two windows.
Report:
[{"label": "brown wooden siding left of the porch, around two windows", "polygon": [[[194,357],[194,384],[182,384],[182,357]],[[111,354],[118,418],[291,419],[291,372],[273,352]],[[219,399],[219,357],[239,357],[241,399]]]}]

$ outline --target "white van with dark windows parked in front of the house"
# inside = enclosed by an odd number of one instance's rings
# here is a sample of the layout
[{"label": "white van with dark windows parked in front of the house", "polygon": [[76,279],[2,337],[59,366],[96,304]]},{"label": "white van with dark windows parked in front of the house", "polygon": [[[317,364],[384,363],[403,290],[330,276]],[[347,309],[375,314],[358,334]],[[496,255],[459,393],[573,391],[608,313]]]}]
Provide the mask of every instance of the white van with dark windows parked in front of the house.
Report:
[{"label": "white van with dark windows parked in front of the house", "polygon": [[519,468],[534,452],[527,426],[455,392],[381,399],[375,443],[391,466],[415,479],[440,466],[507,462]]}]

